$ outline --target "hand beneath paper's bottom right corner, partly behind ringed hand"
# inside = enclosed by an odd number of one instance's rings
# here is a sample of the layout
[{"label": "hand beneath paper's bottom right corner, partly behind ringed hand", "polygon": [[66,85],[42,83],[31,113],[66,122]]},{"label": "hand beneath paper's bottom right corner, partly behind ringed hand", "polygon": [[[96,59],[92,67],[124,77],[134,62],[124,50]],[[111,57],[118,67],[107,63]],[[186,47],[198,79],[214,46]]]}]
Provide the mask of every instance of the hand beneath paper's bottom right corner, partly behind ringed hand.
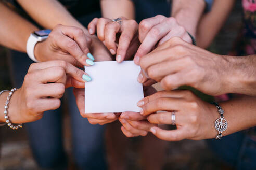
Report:
[{"label": "hand beneath paper's bottom right corner, partly behind ringed hand", "polygon": [[[145,96],[156,92],[156,89],[153,87],[144,88]],[[156,124],[149,123],[147,116],[140,115],[138,112],[133,111],[123,112],[119,117],[119,121],[122,124],[121,130],[127,137],[146,136],[151,127],[157,126]]]}]

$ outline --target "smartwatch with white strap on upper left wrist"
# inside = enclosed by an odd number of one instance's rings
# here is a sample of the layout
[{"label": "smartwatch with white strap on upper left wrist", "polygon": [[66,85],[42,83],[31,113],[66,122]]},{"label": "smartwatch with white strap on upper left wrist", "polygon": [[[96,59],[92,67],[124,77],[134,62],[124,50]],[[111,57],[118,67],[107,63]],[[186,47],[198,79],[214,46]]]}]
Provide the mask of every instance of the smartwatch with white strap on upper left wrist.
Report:
[{"label": "smartwatch with white strap on upper left wrist", "polygon": [[29,58],[34,62],[39,62],[35,59],[34,48],[37,42],[44,41],[48,35],[50,34],[50,30],[39,30],[30,34],[30,37],[27,41],[27,54]]}]

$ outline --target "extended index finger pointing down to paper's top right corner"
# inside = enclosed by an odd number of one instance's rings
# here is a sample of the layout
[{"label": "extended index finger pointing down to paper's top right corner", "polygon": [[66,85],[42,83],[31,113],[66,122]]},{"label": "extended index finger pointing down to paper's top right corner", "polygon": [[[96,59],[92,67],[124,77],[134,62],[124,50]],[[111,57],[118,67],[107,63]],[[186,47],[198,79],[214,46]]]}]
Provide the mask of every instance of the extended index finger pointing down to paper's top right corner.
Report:
[{"label": "extended index finger pointing down to paper's top right corner", "polygon": [[170,22],[165,21],[153,26],[139,46],[136,55],[143,56],[149,53],[157,42],[171,31],[171,26]]}]

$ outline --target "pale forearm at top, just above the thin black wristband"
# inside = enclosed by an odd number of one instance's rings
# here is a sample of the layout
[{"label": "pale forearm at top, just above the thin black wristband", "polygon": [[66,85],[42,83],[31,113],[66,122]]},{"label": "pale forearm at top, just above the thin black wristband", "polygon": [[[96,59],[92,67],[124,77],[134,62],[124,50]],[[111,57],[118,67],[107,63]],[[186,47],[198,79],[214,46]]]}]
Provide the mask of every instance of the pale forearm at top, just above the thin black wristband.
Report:
[{"label": "pale forearm at top, just above the thin black wristband", "polygon": [[173,0],[171,16],[196,37],[197,25],[205,6],[206,3],[203,0]]}]

